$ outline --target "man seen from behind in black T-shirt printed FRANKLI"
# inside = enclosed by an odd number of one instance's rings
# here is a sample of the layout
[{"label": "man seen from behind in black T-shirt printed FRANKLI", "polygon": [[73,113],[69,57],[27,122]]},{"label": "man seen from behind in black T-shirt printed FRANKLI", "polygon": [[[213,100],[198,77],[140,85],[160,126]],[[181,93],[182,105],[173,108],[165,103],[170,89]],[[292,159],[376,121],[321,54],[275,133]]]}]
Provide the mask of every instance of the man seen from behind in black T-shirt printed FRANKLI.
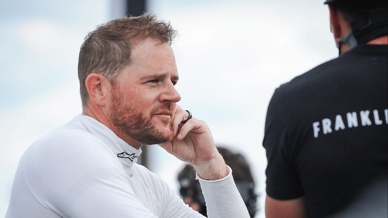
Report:
[{"label": "man seen from behind in black T-shirt printed FRANKLI", "polygon": [[387,3],[325,3],[339,57],[268,106],[267,218],[332,215],[387,174]]}]

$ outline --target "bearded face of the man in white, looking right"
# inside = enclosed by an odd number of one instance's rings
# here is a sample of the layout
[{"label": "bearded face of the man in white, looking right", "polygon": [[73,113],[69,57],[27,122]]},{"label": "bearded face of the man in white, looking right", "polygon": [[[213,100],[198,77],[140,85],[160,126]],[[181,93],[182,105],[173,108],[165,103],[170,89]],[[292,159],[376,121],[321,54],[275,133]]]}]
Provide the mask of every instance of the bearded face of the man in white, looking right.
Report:
[{"label": "bearded face of the man in white, looking right", "polygon": [[168,43],[145,40],[135,46],[132,63],[113,84],[110,106],[112,123],[140,144],[158,144],[173,136],[174,85],[178,71]]}]

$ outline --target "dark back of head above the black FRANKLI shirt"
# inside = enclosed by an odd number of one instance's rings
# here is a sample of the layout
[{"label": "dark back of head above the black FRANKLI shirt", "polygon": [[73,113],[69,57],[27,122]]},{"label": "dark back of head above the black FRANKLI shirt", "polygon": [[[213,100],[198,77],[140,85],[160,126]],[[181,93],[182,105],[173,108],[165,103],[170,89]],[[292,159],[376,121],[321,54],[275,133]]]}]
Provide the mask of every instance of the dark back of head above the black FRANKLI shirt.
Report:
[{"label": "dark back of head above the black FRANKLI shirt", "polygon": [[349,23],[357,44],[365,44],[388,33],[386,0],[327,0]]}]

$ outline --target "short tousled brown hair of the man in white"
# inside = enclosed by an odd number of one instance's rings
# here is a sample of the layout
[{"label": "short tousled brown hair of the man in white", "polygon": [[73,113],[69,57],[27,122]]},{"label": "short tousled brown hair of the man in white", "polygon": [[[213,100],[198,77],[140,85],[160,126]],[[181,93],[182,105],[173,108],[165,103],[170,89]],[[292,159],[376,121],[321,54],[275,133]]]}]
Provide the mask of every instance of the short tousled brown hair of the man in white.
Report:
[{"label": "short tousled brown hair of the man in white", "polygon": [[137,43],[151,38],[171,45],[176,35],[170,22],[159,21],[153,14],[124,17],[97,26],[85,37],[78,58],[82,106],[89,97],[85,81],[90,73],[102,74],[114,82],[120,71],[131,63],[131,49]]}]

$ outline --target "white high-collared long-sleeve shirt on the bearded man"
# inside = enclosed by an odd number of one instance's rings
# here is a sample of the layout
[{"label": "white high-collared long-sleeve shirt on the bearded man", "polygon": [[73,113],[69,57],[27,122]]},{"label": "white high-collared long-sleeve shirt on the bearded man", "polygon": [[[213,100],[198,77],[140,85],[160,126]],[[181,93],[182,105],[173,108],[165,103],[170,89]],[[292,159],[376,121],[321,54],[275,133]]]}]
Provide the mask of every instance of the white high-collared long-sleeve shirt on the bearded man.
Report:
[{"label": "white high-collared long-sleeve shirt on the bearded man", "polygon": [[[84,115],[23,154],[5,218],[200,218],[136,164],[141,150]],[[209,218],[249,218],[232,178],[200,180]]]}]

